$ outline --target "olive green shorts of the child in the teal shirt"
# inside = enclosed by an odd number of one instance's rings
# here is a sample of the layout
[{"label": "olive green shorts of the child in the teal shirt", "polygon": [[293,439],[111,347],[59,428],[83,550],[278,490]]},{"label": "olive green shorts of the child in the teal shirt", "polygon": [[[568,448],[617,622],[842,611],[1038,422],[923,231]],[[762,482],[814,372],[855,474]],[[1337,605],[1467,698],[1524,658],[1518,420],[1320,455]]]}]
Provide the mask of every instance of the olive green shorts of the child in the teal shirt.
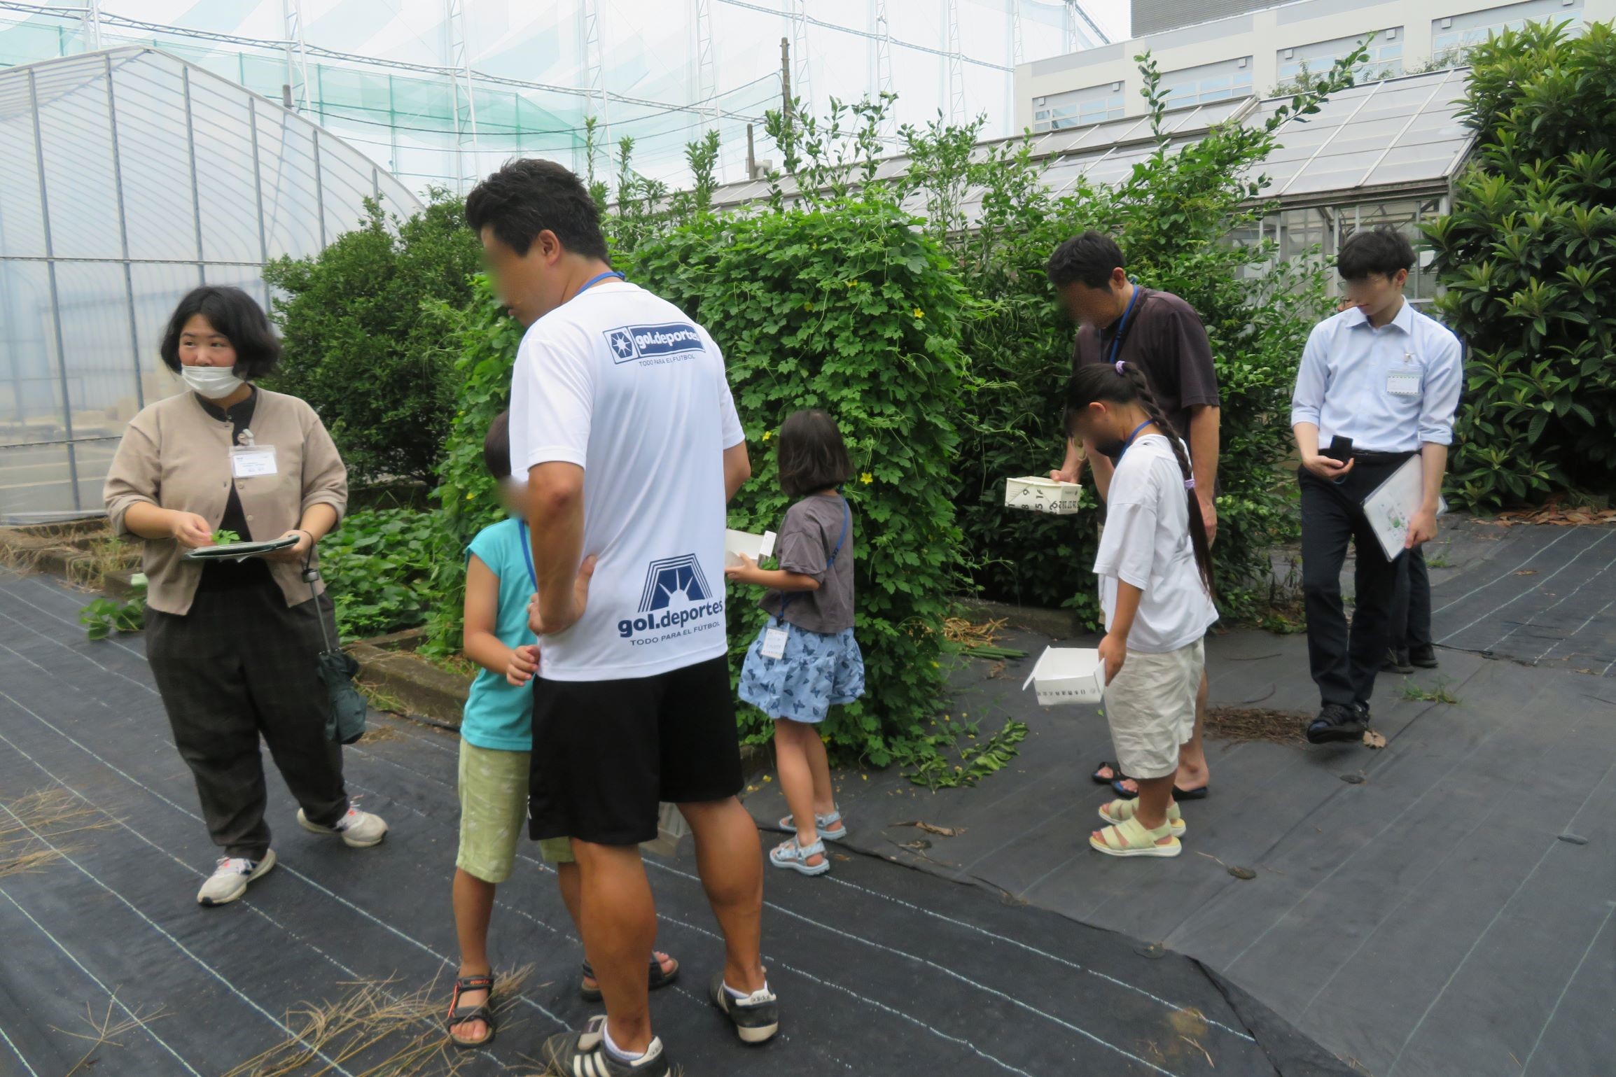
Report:
[{"label": "olive green shorts of the child in the teal shirt", "polygon": [[[485,883],[511,877],[527,825],[528,752],[478,748],[461,740],[461,854],[454,865]],[[538,843],[549,864],[572,862],[572,840]]]}]

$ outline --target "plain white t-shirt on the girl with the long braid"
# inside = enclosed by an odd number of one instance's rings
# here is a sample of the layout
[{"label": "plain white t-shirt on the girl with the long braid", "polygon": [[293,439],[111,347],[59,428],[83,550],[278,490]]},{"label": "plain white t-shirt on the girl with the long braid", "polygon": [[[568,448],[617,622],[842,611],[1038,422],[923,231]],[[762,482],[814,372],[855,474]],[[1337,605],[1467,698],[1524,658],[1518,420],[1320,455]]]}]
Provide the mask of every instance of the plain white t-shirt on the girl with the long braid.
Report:
[{"label": "plain white t-shirt on the girl with the long braid", "polygon": [[1123,452],[1105,499],[1105,530],[1094,557],[1105,628],[1117,617],[1117,581],[1144,591],[1128,649],[1165,654],[1201,639],[1217,607],[1201,583],[1189,544],[1185,473],[1164,434],[1146,434]]}]

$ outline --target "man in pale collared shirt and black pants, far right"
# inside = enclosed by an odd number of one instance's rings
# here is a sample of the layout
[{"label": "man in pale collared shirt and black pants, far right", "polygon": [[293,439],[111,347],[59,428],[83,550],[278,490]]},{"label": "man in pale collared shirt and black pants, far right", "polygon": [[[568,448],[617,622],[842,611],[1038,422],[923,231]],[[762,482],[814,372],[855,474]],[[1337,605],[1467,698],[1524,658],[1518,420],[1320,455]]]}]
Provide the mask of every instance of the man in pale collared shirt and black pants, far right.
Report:
[{"label": "man in pale collared shirt and black pants, far right", "polygon": [[[1336,270],[1351,307],[1314,326],[1291,397],[1301,455],[1307,662],[1322,704],[1307,725],[1314,744],[1356,741],[1369,725],[1398,560],[1382,552],[1364,499],[1414,455],[1424,496],[1409,522],[1408,547],[1437,536],[1464,371],[1459,339],[1403,297],[1412,265],[1414,247],[1393,228],[1356,233],[1341,245]],[[1336,439],[1349,439],[1349,449]],[[1345,450],[1324,455],[1333,444]],[[1348,539],[1357,564],[1351,630],[1341,602]]]}]

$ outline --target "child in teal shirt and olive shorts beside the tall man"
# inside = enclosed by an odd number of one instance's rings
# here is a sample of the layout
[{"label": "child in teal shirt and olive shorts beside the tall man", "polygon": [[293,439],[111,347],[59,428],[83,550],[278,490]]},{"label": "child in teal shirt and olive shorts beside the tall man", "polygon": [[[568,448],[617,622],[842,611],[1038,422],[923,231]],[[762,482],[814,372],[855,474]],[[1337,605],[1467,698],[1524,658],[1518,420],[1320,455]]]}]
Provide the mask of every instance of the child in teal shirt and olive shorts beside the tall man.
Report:
[{"label": "child in teal shirt and olive shorts beside the tall man", "polygon": [[[457,1046],[485,1046],[494,1038],[493,972],[488,964],[488,920],[494,886],[511,877],[516,846],[527,822],[528,754],[533,749],[533,675],[538,646],[528,628],[527,604],[535,581],[527,525],[527,483],[511,478],[509,418],[504,412],[483,442],[488,473],[511,518],[477,533],[465,557],[465,657],[482,668],[461,717],[461,849],[454,862],[454,927],[461,937],[461,970],[449,1003],[449,1038]],[[540,841],[540,856],[556,865],[561,898],[579,922],[579,865],[567,838]],[[679,962],[651,956],[651,987],[672,983]],[[600,998],[600,985],[583,962],[583,998]]]}]

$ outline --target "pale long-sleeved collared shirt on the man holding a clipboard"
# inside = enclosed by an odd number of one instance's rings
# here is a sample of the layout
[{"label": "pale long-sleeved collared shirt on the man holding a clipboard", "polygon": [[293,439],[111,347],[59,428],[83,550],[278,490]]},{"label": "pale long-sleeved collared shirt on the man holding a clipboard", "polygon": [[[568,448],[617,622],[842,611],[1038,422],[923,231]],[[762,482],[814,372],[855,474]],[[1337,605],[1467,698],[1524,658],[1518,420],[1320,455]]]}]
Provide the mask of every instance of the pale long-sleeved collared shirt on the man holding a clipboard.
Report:
[{"label": "pale long-sleeved collared shirt on the man holding a clipboard", "polygon": [[1351,438],[1359,452],[1453,444],[1464,386],[1459,337],[1408,300],[1378,329],[1353,307],[1314,326],[1291,396],[1291,426],[1312,423],[1319,446]]}]

